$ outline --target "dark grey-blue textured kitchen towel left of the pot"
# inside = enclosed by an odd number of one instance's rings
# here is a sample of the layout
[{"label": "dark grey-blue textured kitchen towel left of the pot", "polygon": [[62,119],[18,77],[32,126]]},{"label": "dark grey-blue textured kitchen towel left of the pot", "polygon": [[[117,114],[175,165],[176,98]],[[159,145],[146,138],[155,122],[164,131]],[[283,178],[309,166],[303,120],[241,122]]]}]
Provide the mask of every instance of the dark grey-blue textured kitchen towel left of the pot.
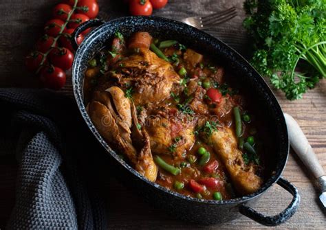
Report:
[{"label": "dark grey-blue textured kitchen towel left of the pot", "polygon": [[0,89],[0,108],[0,154],[19,161],[8,229],[106,229],[104,205],[82,180],[91,169],[78,168],[96,142],[74,101],[47,90]]}]

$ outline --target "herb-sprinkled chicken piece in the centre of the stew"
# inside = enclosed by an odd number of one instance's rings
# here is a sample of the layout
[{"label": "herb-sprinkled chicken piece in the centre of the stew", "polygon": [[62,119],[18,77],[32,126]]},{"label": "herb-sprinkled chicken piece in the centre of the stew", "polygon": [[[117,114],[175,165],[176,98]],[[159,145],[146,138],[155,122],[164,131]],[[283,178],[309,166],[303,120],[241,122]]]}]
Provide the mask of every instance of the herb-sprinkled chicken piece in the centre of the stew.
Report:
[{"label": "herb-sprinkled chicken piece in the centre of the stew", "polygon": [[195,119],[175,117],[149,117],[146,129],[151,139],[151,149],[156,154],[171,154],[176,159],[184,159],[186,152],[195,143]]}]

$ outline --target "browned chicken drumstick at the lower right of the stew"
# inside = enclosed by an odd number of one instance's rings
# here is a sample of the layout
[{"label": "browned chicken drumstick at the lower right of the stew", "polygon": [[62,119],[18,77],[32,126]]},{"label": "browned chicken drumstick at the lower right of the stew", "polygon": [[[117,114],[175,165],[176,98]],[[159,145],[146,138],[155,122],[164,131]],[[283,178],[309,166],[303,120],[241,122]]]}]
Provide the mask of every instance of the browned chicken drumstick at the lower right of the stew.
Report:
[{"label": "browned chicken drumstick at the lower right of the stew", "polygon": [[255,174],[252,165],[243,162],[242,153],[237,148],[237,139],[230,128],[219,128],[210,136],[215,152],[226,165],[231,180],[239,194],[248,195],[256,192],[262,179]]}]

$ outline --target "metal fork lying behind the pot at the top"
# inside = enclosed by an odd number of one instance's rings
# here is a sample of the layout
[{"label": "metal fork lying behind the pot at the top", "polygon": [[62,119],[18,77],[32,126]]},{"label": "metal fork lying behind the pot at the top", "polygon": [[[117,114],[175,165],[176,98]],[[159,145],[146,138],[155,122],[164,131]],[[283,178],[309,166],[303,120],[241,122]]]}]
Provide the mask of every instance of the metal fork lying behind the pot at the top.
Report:
[{"label": "metal fork lying behind the pot at the top", "polygon": [[207,16],[191,16],[186,19],[181,19],[183,23],[196,27],[199,30],[206,30],[213,25],[219,25],[225,23],[230,19],[237,16],[237,11],[235,7],[214,14],[209,14]]}]

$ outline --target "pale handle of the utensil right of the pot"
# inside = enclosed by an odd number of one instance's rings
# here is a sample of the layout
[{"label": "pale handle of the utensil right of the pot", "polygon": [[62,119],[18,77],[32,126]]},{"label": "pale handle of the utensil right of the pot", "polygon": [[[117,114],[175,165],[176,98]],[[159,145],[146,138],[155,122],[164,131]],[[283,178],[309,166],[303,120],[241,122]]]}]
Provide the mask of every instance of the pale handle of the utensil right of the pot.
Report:
[{"label": "pale handle of the utensil right of the pot", "polygon": [[303,161],[316,179],[325,175],[323,167],[320,165],[312,146],[310,146],[307,137],[305,137],[296,120],[287,113],[284,113],[284,117],[287,124],[290,145],[296,154],[298,154],[298,157],[300,157],[301,161]]}]

